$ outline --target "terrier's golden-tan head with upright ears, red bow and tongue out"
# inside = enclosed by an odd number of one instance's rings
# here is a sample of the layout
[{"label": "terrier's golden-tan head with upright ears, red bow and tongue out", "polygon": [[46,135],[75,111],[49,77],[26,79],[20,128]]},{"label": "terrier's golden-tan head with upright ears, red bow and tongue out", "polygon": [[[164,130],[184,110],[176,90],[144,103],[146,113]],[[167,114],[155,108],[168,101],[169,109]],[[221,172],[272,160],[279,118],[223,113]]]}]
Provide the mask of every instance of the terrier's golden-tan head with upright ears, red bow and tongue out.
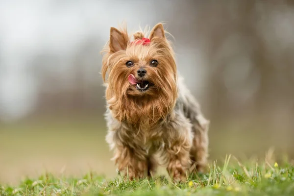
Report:
[{"label": "terrier's golden-tan head with upright ears, red bow and tongue out", "polygon": [[115,100],[121,102],[117,112],[136,110],[132,113],[138,115],[141,111],[141,115],[154,120],[155,116],[166,115],[175,103],[176,66],[163,25],[154,26],[149,39],[143,37],[143,33],[138,32],[134,34],[135,41],[130,42],[126,31],[111,28],[102,75],[105,80],[108,72],[106,99],[110,109],[118,104],[113,102]]}]

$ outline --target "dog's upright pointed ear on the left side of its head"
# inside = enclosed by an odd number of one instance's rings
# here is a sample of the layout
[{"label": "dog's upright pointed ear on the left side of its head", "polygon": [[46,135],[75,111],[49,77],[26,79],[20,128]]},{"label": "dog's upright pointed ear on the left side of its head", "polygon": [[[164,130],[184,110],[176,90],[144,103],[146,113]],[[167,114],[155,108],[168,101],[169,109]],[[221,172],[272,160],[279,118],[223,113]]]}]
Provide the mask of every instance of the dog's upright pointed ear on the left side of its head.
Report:
[{"label": "dog's upright pointed ear on the left side of its head", "polygon": [[121,32],[114,27],[110,28],[109,48],[111,52],[125,50],[127,47],[128,41],[129,39],[126,33]]}]

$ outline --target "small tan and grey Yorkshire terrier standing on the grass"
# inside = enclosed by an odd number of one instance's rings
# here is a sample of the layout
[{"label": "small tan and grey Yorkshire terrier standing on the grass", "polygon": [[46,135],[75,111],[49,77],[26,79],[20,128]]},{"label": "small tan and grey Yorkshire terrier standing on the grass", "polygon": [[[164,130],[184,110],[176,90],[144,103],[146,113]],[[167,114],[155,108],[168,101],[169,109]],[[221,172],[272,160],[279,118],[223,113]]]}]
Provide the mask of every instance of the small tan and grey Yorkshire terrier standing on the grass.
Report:
[{"label": "small tan and grey Yorkshire terrier standing on the grass", "polygon": [[106,141],[119,172],[151,176],[160,164],[174,180],[202,172],[208,157],[208,126],[196,99],[177,73],[162,24],[149,38],[110,28],[102,59],[108,126]]}]

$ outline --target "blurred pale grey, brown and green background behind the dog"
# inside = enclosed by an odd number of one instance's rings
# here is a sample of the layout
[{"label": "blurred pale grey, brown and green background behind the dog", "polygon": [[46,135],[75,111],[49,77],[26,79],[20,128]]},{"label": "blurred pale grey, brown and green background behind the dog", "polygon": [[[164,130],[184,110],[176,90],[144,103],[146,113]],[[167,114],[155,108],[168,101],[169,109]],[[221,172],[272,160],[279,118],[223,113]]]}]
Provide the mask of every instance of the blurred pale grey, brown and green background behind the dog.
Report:
[{"label": "blurred pale grey, brown and green background behind the dog", "polygon": [[165,22],[211,120],[210,160],[294,157],[294,1],[0,0],[0,183],[116,176],[100,51],[111,26]]}]

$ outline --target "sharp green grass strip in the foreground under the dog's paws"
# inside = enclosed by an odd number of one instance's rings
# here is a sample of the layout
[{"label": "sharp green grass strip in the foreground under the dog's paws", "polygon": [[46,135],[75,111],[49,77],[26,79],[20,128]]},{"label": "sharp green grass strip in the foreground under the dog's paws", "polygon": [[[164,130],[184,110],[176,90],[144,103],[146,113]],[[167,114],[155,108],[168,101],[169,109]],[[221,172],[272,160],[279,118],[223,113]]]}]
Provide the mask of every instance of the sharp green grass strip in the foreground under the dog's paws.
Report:
[{"label": "sharp green grass strip in the foreground under the dog's paws", "polygon": [[173,183],[169,177],[124,180],[105,179],[89,172],[83,178],[57,177],[46,173],[38,179],[25,179],[19,186],[0,185],[0,196],[294,196],[294,166],[289,161],[277,164],[248,160],[244,164],[227,156],[221,164],[209,165],[207,173],[190,175],[187,182]]}]

